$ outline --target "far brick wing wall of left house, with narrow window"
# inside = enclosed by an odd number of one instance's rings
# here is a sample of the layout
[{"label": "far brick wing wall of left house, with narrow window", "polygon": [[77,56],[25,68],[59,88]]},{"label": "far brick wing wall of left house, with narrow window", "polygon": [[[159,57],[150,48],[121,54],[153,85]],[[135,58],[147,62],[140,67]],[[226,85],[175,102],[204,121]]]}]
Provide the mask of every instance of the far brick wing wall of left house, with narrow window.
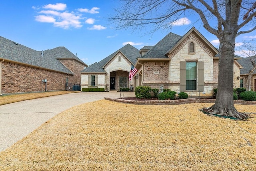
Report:
[{"label": "far brick wing wall of left house, with narrow window", "polygon": [[81,71],[84,70],[84,65],[74,59],[58,59],[64,66],[66,66],[75,75],[68,75],[68,83],[71,85],[81,84]]}]

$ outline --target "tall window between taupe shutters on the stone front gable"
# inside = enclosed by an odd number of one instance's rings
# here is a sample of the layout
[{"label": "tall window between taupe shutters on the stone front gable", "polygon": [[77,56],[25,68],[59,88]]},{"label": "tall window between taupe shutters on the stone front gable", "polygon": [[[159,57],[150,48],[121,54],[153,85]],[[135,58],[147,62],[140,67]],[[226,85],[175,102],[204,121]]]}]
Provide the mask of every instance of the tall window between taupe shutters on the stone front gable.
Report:
[{"label": "tall window between taupe shutters on the stone front gable", "polygon": [[196,90],[196,62],[186,62],[186,90]]}]

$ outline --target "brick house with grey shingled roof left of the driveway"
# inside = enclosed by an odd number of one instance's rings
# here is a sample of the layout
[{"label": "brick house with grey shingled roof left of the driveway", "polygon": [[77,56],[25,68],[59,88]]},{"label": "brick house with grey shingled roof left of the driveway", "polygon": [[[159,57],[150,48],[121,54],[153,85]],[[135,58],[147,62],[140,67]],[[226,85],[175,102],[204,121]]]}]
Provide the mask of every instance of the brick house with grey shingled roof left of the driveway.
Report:
[{"label": "brick house with grey shingled roof left of the driveway", "polygon": [[72,89],[86,66],[65,47],[36,51],[0,36],[0,94]]}]

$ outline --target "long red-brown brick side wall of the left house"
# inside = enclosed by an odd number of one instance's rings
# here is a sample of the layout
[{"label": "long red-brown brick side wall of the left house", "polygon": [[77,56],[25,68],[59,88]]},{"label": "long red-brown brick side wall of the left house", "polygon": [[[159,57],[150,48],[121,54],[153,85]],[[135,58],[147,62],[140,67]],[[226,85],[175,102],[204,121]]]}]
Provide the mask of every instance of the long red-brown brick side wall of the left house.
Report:
[{"label": "long red-brown brick side wall of the left house", "polygon": [[47,91],[65,90],[66,74],[11,62],[2,63],[2,93],[45,91],[44,79],[47,79]]}]

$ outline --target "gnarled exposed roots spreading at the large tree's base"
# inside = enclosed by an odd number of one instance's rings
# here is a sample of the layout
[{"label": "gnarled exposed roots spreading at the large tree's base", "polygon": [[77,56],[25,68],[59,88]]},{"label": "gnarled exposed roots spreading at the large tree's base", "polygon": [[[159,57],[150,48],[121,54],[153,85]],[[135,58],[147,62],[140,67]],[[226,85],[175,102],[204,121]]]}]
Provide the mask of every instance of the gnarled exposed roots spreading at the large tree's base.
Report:
[{"label": "gnarled exposed roots spreading at the large tree's base", "polygon": [[214,106],[204,108],[202,111],[209,113],[209,114],[217,114],[222,116],[228,116],[228,117],[235,117],[238,119],[247,119],[249,116],[245,113],[240,113],[236,109],[225,109],[225,108],[215,108]]}]

